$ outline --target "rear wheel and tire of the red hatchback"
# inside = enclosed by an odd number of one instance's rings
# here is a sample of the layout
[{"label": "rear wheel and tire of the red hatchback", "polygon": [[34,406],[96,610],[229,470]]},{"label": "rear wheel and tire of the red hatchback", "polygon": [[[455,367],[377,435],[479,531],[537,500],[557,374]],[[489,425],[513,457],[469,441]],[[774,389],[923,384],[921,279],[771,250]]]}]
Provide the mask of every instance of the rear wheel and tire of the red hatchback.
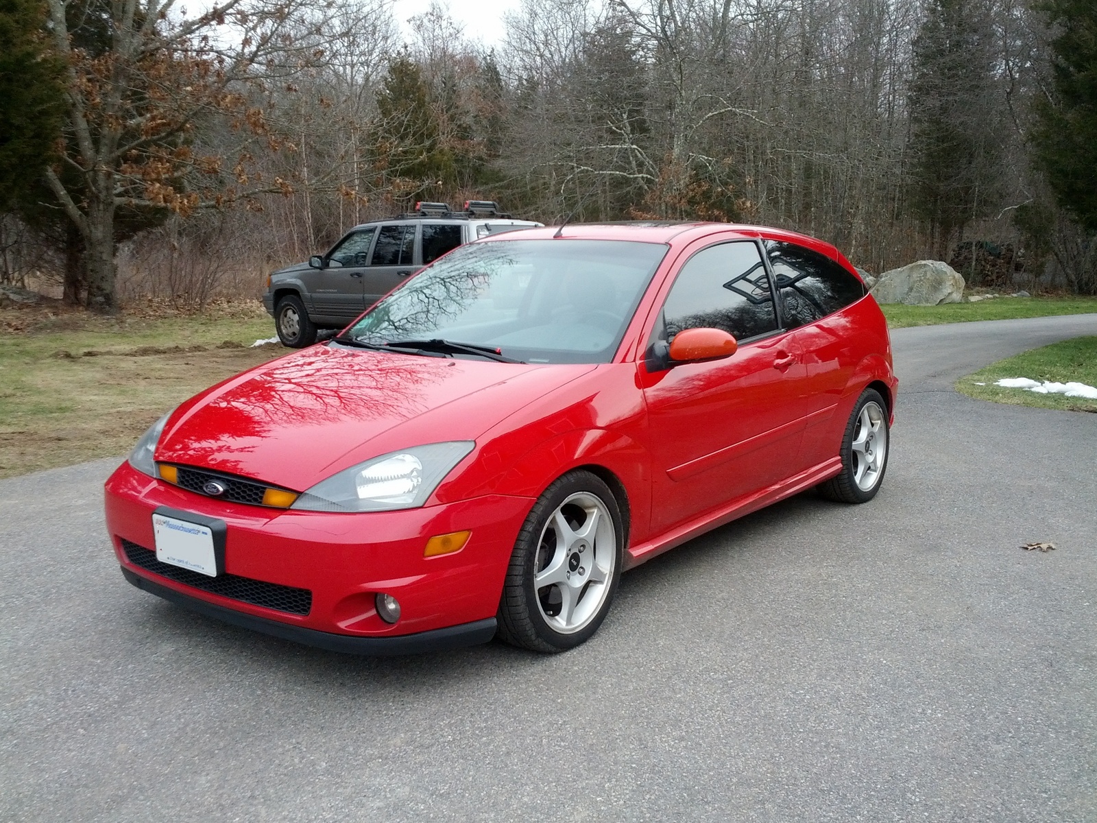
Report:
[{"label": "rear wheel and tire of the red hatchback", "polygon": [[887,470],[891,432],[887,405],[874,388],[866,388],[853,405],[841,439],[841,471],[818,489],[840,503],[868,503],[877,496]]}]

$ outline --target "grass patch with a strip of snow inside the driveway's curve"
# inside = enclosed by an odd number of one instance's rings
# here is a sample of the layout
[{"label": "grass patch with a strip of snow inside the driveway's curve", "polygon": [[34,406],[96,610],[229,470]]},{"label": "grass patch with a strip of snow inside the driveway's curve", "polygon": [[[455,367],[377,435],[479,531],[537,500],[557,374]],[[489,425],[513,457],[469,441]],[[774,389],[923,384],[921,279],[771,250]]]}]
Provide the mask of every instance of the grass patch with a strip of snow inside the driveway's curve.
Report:
[{"label": "grass patch with a strip of snow inside the driveway's curve", "polygon": [[961,394],[981,401],[1071,412],[1097,412],[1097,401],[1085,397],[1037,394],[1024,388],[1003,388],[994,385],[994,382],[1002,377],[1029,377],[1058,383],[1074,381],[1097,386],[1097,337],[1076,337],[1073,340],[1044,346],[1042,349],[1032,349],[1017,357],[992,363],[974,374],[961,377],[955,384],[957,391]]}]

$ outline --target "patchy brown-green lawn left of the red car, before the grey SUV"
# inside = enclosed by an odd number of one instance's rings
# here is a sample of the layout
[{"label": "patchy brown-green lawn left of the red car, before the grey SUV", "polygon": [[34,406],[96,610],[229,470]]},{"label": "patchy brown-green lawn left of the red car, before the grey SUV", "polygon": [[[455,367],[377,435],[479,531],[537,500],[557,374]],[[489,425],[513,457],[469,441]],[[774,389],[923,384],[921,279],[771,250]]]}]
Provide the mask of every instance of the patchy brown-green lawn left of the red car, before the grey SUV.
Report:
[{"label": "patchy brown-green lawn left of the red car, before the grey SUV", "polygon": [[169,408],[284,354],[257,304],[120,319],[0,312],[0,477],[122,455]]}]

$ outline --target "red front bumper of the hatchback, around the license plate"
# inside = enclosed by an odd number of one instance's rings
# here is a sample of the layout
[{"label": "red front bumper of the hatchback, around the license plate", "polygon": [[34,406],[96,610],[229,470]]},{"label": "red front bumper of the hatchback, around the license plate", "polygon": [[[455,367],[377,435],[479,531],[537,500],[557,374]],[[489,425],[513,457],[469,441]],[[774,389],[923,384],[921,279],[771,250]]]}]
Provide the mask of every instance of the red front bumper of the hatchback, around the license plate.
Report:
[{"label": "red front bumper of the hatchback, around the license plate", "polygon": [[[363,654],[399,654],[440,647],[443,642],[463,645],[490,639],[510,553],[533,506],[532,498],[490,495],[403,511],[272,509],[186,492],[128,463],[111,475],[105,491],[106,528],[131,583],[137,580],[143,589],[239,625]],[[223,520],[225,576],[307,589],[307,613],[214,594],[132,562],[125,543],[129,551],[137,546],[155,552],[152,511],[159,506]],[[464,530],[472,535],[460,552],[422,556],[429,538]],[[378,591],[399,600],[400,619],[395,624],[377,616]]]}]

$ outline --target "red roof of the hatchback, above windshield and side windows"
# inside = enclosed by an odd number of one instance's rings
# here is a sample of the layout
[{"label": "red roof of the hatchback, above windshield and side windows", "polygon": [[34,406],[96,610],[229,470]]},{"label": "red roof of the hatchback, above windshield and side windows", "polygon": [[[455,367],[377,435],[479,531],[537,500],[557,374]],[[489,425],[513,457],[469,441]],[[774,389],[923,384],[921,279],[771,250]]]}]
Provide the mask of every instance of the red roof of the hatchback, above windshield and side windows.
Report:
[{"label": "red roof of the hatchback, above windshield and side windows", "polygon": [[[631,223],[568,223],[561,229],[558,226],[531,228],[520,235],[499,235],[499,239],[535,240],[553,238],[559,232],[561,238],[590,240],[637,240],[642,243],[675,243],[683,245],[716,232],[732,232],[744,238],[761,237],[771,240],[785,240],[822,251],[827,257],[842,259],[841,252],[829,243],[771,226],[753,226],[740,223],[702,223],[702,222],[663,222],[637,221]],[[497,243],[495,237],[485,238],[479,243]]]}]

